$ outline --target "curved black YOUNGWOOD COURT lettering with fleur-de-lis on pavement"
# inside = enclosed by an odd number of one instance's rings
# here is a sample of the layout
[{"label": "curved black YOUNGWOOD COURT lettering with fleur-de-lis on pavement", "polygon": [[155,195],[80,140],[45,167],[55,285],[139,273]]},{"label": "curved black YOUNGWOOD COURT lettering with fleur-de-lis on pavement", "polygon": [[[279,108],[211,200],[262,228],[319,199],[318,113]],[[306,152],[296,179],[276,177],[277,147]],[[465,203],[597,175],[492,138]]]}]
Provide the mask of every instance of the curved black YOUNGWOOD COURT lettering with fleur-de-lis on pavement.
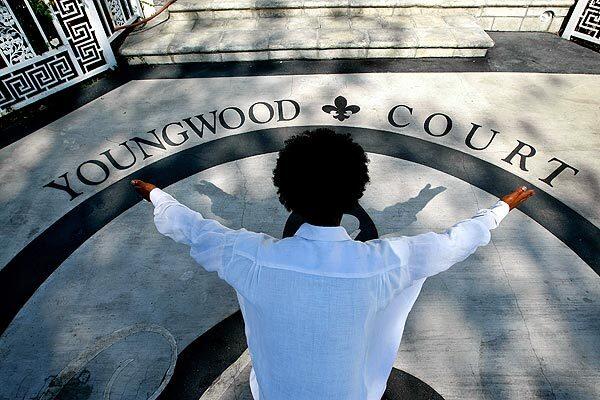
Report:
[{"label": "curved black YOUNGWOOD COURT lettering with fleur-de-lis on pavement", "polygon": [[[340,101],[342,99],[342,101]],[[336,105],[337,124],[351,126],[352,118],[360,111],[358,106],[346,106],[346,100],[339,96]],[[345,107],[345,108],[344,108]],[[351,108],[352,107],[352,108]],[[331,112],[331,106],[323,106],[327,114]],[[346,115],[346,109],[351,110]],[[303,108],[300,102],[292,99],[281,99],[273,101],[258,101],[249,107],[228,106],[209,112],[181,118],[177,121],[168,122],[158,128],[151,129],[144,134],[136,135],[119,143],[117,146],[108,148],[98,154],[97,157],[81,162],[73,171],[66,171],[44,185],[45,188],[63,193],[65,200],[74,200],[82,194],[95,191],[95,187],[107,182],[111,175],[117,171],[132,171],[140,167],[142,162],[155,155],[165,155],[176,151],[178,147],[190,140],[207,139],[207,135],[217,136],[229,131],[249,129],[253,126],[261,129],[268,125],[276,128],[290,126]],[[310,110],[311,112],[314,110]],[[414,109],[408,104],[395,104],[387,111],[387,129],[391,133],[402,134],[403,132],[414,133],[415,129],[419,135],[432,138],[441,138],[447,135],[463,135],[464,151],[474,153],[490,149],[500,131],[490,127],[484,128],[482,124],[470,122],[470,127],[463,132],[457,129],[453,118],[445,113],[431,112],[422,120],[414,115]],[[314,114],[313,114],[314,115]],[[342,118],[343,116],[343,118]],[[322,121],[322,120],[321,120]],[[243,133],[241,133],[243,134]],[[529,143],[514,139],[514,148],[507,152],[501,161],[506,163],[506,169],[520,170],[536,174],[537,180],[549,187],[553,187],[565,179],[577,175],[579,170],[566,161],[552,157],[547,162],[548,167],[544,171],[530,171],[529,160],[536,156],[536,148]]]}]

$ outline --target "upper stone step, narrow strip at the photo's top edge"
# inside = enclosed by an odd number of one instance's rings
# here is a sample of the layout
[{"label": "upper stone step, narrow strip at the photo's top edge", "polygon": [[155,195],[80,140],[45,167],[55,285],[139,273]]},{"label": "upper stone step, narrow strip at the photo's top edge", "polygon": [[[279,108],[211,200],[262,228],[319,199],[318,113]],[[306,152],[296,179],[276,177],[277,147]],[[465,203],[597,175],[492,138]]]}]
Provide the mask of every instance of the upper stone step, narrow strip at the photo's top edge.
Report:
[{"label": "upper stone step, narrow strip at the photo's top edge", "polygon": [[556,33],[575,0],[179,0],[172,19],[471,15],[486,30]]}]

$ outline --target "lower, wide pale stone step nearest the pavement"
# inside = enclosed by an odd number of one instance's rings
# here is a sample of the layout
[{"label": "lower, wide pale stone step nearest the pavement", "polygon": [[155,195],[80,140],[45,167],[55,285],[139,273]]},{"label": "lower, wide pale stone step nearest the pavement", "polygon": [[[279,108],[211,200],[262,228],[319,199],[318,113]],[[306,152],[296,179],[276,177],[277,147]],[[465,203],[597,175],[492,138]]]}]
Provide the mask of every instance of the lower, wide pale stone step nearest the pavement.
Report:
[{"label": "lower, wide pale stone step nearest the pavement", "polygon": [[267,59],[483,57],[494,42],[472,16],[166,20],[131,33],[130,64]]}]

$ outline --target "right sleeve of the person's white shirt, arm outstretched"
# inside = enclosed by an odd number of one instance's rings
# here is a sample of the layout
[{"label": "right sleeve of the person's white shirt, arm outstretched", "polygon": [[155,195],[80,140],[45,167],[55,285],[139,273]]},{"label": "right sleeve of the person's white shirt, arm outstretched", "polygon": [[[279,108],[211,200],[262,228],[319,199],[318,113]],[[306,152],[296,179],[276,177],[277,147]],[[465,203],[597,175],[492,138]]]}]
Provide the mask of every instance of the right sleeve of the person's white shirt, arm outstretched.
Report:
[{"label": "right sleeve of the person's white shirt, arm outstretched", "polygon": [[479,210],[443,233],[424,233],[411,237],[383,239],[382,254],[387,264],[395,264],[384,276],[386,298],[411,286],[419,279],[438,274],[489,243],[490,230],[498,227],[509,206],[498,201]]}]

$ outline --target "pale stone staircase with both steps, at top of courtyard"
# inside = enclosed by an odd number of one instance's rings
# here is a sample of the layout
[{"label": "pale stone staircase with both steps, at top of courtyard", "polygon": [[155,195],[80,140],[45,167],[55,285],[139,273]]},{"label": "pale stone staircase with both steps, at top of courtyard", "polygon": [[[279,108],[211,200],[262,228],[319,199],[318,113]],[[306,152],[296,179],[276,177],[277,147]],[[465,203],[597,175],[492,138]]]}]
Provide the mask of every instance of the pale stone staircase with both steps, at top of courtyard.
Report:
[{"label": "pale stone staircase with both steps, at top of courtyard", "polygon": [[[539,4],[529,7],[532,1]],[[179,0],[161,20],[132,32],[120,53],[129,64],[484,57],[494,45],[484,28],[519,30],[527,22],[529,30],[548,30],[572,2]],[[543,21],[547,9],[550,22]]]}]

